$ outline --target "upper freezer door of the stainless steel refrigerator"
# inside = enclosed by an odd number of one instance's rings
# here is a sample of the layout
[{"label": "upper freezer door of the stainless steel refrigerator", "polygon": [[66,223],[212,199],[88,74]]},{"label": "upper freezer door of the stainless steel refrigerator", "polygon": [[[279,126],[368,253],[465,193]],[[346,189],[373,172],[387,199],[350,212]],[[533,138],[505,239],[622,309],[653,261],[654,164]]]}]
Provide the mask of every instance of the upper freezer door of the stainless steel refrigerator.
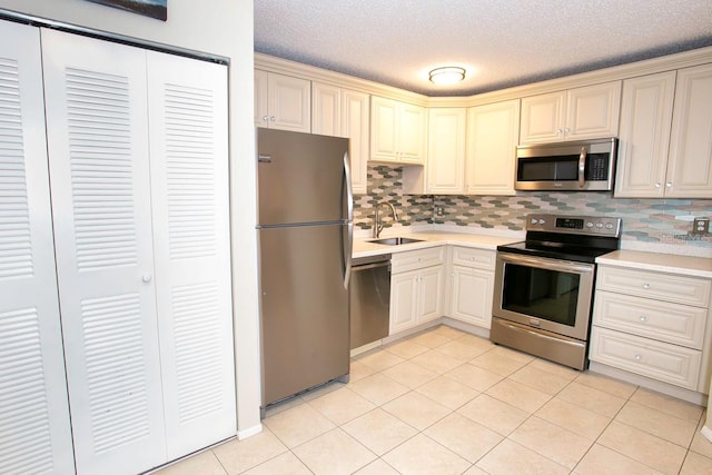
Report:
[{"label": "upper freezer door of the stainless steel refrigerator", "polygon": [[350,220],[348,139],[258,128],[257,151],[260,227]]}]

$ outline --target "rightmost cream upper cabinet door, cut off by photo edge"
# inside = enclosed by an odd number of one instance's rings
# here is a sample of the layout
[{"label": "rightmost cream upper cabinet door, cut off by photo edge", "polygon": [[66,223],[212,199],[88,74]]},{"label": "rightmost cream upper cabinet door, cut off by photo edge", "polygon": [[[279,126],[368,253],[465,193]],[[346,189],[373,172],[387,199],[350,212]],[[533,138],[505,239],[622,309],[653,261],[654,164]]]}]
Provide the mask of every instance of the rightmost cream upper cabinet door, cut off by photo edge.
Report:
[{"label": "rightmost cream upper cabinet door, cut off by photo edge", "polygon": [[665,196],[712,198],[712,65],[678,71]]}]

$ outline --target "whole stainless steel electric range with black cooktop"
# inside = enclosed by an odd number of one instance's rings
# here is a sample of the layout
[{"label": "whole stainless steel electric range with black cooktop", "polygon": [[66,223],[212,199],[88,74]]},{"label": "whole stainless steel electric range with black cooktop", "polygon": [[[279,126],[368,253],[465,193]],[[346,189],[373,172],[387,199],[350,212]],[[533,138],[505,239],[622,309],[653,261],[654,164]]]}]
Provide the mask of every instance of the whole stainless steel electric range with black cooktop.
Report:
[{"label": "whole stainless steel electric range with black cooktop", "polygon": [[620,218],[527,215],[526,240],[497,247],[490,339],[585,369],[595,259],[620,243]]}]

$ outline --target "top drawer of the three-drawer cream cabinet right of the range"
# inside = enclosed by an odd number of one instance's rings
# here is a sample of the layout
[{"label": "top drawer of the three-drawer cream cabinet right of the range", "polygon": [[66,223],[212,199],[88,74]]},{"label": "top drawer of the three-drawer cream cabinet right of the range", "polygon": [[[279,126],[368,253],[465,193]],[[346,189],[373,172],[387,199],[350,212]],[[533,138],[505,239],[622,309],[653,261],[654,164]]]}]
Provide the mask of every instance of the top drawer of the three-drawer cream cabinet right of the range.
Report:
[{"label": "top drawer of the three-drawer cream cabinet right of the range", "polygon": [[617,267],[600,266],[596,288],[644,298],[706,307],[710,280]]}]

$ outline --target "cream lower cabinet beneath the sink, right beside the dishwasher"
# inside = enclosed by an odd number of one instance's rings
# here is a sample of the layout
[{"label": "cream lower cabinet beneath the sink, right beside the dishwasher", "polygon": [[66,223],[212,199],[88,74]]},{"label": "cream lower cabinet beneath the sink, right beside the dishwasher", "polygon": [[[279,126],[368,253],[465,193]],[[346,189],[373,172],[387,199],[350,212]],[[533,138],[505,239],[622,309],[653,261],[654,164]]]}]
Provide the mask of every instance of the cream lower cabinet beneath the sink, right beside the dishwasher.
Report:
[{"label": "cream lower cabinet beneath the sink, right beside the dishwasher", "polygon": [[444,256],[444,246],[393,255],[390,335],[443,316]]}]

